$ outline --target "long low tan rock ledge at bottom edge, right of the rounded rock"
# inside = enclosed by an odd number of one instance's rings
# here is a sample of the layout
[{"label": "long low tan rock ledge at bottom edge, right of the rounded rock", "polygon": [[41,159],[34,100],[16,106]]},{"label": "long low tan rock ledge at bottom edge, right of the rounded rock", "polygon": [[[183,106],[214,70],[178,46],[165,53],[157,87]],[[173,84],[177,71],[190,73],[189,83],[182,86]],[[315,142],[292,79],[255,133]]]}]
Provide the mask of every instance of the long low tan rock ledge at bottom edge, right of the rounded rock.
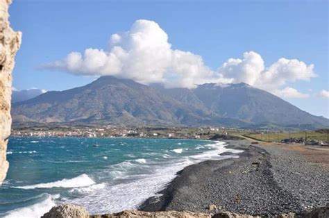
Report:
[{"label": "long low tan rock ledge at bottom edge, right of the rounded rock", "polygon": [[158,211],[158,212],[145,212],[139,210],[125,210],[117,212],[112,215],[92,215],[90,218],[137,218],[137,217],[151,217],[151,218],[211,218],[211,215],[201,212],[190,212],[190,211]]}]

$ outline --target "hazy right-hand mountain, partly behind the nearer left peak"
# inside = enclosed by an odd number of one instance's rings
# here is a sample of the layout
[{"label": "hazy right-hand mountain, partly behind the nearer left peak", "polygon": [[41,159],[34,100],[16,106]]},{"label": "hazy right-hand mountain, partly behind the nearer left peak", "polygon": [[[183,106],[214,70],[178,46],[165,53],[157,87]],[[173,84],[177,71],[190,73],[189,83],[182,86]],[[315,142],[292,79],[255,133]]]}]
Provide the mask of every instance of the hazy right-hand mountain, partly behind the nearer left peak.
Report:
[{"label": "hazy right-hand mountain, partly behind the nearer left peak", "polygon": [[189,103],[199,99],[203,106],[223,118],[244,121],[250,126],[282,126],[291,128],[314,128],[329,126],[324,117],[310,115],[275,95],[246,83],[199,85],[186,96],[185,89],[161,89],[162,93]]}]

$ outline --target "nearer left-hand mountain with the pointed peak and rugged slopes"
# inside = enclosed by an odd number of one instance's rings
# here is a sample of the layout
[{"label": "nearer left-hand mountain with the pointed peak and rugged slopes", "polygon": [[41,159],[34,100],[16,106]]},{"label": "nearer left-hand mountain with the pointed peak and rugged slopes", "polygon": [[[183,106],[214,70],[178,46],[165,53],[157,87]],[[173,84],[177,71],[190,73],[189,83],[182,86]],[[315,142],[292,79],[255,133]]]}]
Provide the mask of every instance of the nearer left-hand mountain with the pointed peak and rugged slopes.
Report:
[{"label": "nearer left-hand mountain with the pointed peak and rugged slopes", "polygon": [[98,124],[169,124],[203,120],[204,114],[128,79],[102,76],[62,92],[47,92],[15,103],[12,114],[39,122],[81,121]]}]

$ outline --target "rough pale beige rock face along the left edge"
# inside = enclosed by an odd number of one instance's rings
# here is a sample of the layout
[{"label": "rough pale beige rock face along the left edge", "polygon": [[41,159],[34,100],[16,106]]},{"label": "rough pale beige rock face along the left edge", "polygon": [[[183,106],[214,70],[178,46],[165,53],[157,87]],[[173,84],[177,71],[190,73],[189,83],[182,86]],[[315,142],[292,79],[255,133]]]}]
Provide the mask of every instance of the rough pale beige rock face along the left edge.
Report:
[{"label": "rough pale beige rock face along the left edge", "polygon": [[6,177],[9,166],[6,150],[11,127],[12,68],[22,37],[22,33],[12,31],[9,26],[10,3],[11,0],[0,0],[0,184]]}]

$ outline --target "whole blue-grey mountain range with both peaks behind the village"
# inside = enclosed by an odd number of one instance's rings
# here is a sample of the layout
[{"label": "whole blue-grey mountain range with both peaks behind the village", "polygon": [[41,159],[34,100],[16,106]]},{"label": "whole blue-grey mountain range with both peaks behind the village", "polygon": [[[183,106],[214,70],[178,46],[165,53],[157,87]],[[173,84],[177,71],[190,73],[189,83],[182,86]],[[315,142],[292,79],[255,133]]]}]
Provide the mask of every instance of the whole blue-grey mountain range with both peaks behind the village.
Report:
[{"label": "whole blue-grey mountain range with both peaks behind the village", "polygon": [[127,126],[233,126],[318,128],[328,119],[300,110],[245,83],[207,83],[194,90],[146,86],[101,76],[83,87],[47,92],[13,103],[14,123],[74,122]]}]

